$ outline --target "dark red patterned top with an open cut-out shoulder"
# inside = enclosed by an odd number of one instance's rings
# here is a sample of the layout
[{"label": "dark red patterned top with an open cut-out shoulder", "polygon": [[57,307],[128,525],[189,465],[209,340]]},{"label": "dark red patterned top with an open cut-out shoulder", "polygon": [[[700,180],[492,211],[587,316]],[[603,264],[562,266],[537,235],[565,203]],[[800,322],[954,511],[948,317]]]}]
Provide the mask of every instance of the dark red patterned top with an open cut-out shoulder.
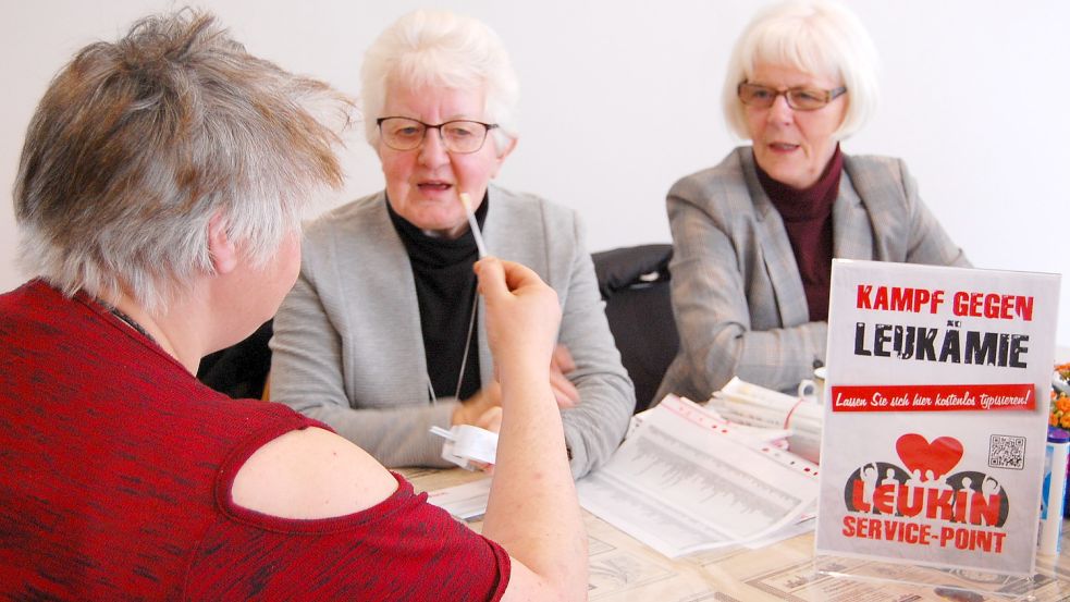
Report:
[{"label": "dark red patterned top with an open cut-out shoulder", "polygon": [[509,558],[415,494],[291,520],[230,496],[258,447],[325,428],[230,400],[83,295],[0,295],[0,598],[497,600]]}]

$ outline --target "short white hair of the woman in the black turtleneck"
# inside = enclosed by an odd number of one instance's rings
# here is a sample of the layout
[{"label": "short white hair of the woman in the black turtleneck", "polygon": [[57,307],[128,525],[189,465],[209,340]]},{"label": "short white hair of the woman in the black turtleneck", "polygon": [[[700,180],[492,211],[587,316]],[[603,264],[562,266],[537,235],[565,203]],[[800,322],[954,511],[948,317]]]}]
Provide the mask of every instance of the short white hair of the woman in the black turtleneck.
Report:
[{"label": "short white hair of the woman in the black turtleneck", "polygon": [[391,85],[408,88],[443,86],[487,91],[485,119],[501,151],[517,136],[515,112],[520,97],[516,73],[501,38],[475,19],[445,11],[419,10],[402,16],[376,38],[360,69],[365,134],[379,144],[376,119],[383,115]]}]

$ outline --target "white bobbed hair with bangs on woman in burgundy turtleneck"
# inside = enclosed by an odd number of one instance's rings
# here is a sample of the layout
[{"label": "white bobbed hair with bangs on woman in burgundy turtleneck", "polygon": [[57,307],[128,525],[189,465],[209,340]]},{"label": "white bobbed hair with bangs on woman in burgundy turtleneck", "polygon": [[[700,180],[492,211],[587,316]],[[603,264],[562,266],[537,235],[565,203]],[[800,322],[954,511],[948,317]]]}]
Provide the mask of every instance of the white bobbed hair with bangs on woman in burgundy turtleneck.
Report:
[{"label": "white bobbed hair with bangs on woman in burgundy turtleneck", "polygon": [[836,139],[858,132],[876,109],[876,49],[862,23],[843,5],[789,0],[760,12],[750,22],[733,49],[722,93],[725,120],[741,138],[750,135],[736,88],[761,62],[843,81],[848,107],[833,134]]}]

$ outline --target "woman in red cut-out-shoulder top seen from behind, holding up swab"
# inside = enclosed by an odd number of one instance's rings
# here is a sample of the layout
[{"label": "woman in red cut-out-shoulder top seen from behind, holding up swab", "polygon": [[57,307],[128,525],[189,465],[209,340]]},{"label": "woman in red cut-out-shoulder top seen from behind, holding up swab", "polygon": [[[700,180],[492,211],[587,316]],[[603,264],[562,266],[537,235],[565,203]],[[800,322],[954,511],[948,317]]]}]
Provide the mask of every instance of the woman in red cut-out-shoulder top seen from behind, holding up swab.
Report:
[{"label": "woman in red cut-out-shoulder top seen from behind, holding up swab", "polygon": [[193,377],[294,283],[304,201],[342,179],[324,118],[347,112],[192,11],[51,83],[15,189],[37,278],[0,295],[0,597],[583,595],[561,314],[526,268],[476,267],[503,386],[485,537],[315,420]]}]

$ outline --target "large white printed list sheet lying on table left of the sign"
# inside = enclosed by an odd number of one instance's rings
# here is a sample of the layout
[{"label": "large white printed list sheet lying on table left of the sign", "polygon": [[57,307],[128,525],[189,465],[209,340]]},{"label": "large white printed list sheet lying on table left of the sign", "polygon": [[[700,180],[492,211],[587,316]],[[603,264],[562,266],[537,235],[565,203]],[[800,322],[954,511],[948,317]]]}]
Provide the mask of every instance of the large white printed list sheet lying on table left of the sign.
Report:
[{"label": "large white printed list sheet lying on table left of the sign", "polygon": [[588,512],[676,557],[794,524],[816,500],[816,465],[669,396],[577,489]]}]

